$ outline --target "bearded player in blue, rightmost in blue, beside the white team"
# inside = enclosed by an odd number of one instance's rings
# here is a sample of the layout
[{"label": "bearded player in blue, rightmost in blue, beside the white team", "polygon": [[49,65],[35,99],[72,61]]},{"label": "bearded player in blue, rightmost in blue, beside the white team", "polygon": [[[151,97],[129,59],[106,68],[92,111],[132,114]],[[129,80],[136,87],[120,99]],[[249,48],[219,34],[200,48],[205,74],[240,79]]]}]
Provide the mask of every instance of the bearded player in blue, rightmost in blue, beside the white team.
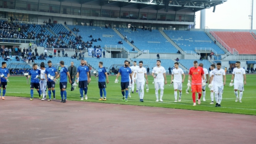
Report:
[{"label": "bearded player in blue, rightmost in blue, beside the white team", "polygon": [[[115,83],[118,82],[118,77],[121,74],[121,91],[122,91],[122,95],[123,95],[123,101],[127,102],[127,98],[128,98],[128,87],[130,85],[130,83],[133,83],[133,78],[132,78],[132,70],[130,67],[128,67],[128,61],[125,60],[124,61],[124,66],[119,68],[118,74],[116,76],[116,80]],[[129,77],[131,78],[131,80],[129,79]],[[130,82],[131,81],[131,82]],[[124,90],[125,90],[125,98],[124,98]]]}]

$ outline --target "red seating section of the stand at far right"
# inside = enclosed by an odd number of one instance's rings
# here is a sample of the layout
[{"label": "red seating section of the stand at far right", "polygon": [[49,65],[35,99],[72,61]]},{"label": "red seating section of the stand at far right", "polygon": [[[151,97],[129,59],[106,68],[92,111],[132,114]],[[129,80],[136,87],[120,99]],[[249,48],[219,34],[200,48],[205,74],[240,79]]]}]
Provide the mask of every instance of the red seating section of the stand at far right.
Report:
[{"label": "red seating section of the stand at far right", "polygon": [[254,33],[220,31],[214,33],[229,47],[235,48],[239,54],[256,54],[256,36]]}]

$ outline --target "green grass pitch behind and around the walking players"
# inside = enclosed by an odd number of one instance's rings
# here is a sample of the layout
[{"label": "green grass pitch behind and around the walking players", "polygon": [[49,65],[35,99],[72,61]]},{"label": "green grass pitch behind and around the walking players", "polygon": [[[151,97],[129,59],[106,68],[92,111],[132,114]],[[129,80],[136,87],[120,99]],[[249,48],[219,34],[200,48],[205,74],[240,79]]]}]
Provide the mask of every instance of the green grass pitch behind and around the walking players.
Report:
[{"label": "green grass pitch behind and around the walking players", "polygon": [[[199,110],[199,111],[212,111],[212,112],[224,112],[224,113],[235,113],[235,114],[247,114],[247,115],[256,115],[256,91],[255,91],[255,81],[256,75],[247,75],[247,84],[244,86],[245,91],[243,92],[242,103],[235,102],[235,94],[233,87],[228,87],[231,75],[227,75],[226,86],[224,86],[223,99],[221,102],[222,107],[215,107],[215,104],[209,104],[210,99],[210,90],[206,88],[206,101],[203,101],[201,98],[201,105],[192,106],[192,94],[186,94],[185,89],[187,88],[187,78],[186,75],[185,82],[183,83],[182,97],[181,102],[174,102],[174,90],[173,86],[165,86],[163,103],[156,102],[155,90],[153,77],[148,76],[149,79],[149,92],[144,95],[144,102],[139,101],[138,93],[131,93],[131,98],[128,98],[128,102],[122,101],[122,94],[120,89],[120,82],[114,83],[116,76],[109,76],[110,83],[107,84],[107,101],[99,101],[99,88],[98,82],[95,77],[92,75],[88,86],[87,100],[86,102],[99,102],[99,103],[113,103],[113,104],[125,104],[125,105],[138,105],[138,106],[148,106],[148,107],[162,107],[162,108],[178,108],[178,109],[190,109],[190,110]],[[6,99],[8,96],[16,97],[30,97],[30,87],[27,84],[26,77],[24,76],[10,76],[7,88],[6,88]],[[167,75],[167,84],[170,84],[171,76]],[[120,77],[119,77],[120,80]],[[67,100],[76,100],[80,101],[79,88],[77,87],[74,91],[70,90],[71,85],[68,84],[67,91]],[[136,87],[136,86],[135,86]],[[56,84],[56,98],[61,99],[59,85]],[[160,90],[158,91],[160,97]],[[34,89],[34,98],[38,98],[38,93]],[[178,92],[179,97],[179,92]],[[202,96],[203,97],[203,96]],[[48,96],[47,96],[48,98]],[[29,100],[29,99],[28,99]],[[47,102],[47,101],[42,101]],[[60,103],[61,104],[61,103]]]}]

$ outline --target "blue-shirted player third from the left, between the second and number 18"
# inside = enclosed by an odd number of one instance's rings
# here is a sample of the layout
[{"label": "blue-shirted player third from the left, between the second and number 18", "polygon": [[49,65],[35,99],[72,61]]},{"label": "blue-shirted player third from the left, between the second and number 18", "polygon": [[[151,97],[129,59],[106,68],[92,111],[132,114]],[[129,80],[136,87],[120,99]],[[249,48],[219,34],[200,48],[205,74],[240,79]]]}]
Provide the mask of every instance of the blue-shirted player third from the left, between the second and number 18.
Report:
[{"label": "blue-shirted player third from the left, between the second and number 18", "polygon": [[[52,67],[52,61],[48,61],[48,66],[45,69],[45,77],[47,77],[47,87],[48,87],[48,95],[49,95],[49,99],[48,101],[51,101],[51,96],[53,93],[53,99],[55,99],[55,82],[53,81],[54,77],[56,77],[58,75],[57,73],[57,69],[55,67]],[[52,89],[52,92],[51,92]]]}]

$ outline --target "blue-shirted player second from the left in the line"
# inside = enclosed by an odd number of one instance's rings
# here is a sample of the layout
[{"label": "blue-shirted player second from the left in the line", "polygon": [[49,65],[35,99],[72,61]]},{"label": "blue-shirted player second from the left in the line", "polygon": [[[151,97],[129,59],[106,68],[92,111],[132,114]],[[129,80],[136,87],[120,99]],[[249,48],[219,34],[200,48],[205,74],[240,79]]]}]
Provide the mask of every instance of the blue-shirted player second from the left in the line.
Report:
[{"label": "blue-shirted player second from the left in the line", "polygon": [[40,74],[41,74],[41,72],[39,69],[37,69],[37,64],[34,63],[32,69],[29,70],[29,76],[27,77],[27,79],[29,79],[31,77],[31,79],[30,79],[30,95],[31,95],[30,100],[33,100],[34,88],[36,88],[36,90],[39,94],[39,98],[41,96],[39,79],[37,78],[37,76],[40,76]]}]

